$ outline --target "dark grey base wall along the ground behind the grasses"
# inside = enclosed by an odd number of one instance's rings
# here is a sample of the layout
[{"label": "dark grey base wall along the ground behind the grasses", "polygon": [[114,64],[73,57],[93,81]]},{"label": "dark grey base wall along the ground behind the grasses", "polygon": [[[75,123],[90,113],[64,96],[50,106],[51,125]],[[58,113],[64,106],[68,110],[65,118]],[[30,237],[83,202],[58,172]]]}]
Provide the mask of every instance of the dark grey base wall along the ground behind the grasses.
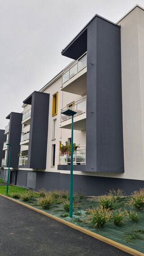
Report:
[{"label": "dark grey base wall along the ground behind the grasses", "polygon": [[[18,170],[17,186],[26,188],[27,172],[25,170]],[[87,175],[74,175],[74,191],[85,190],[87,196],[98,196],[109,192],[111,189],[124,190],[124,193],[130,195],[134,190],[139,190],[144,187],[144,181],[130,180],[110,177],[96,177]],[[36,190],[39,189],[70,189],[70,174],[63,174],[58,172],[39,172],[36,171]]]}]

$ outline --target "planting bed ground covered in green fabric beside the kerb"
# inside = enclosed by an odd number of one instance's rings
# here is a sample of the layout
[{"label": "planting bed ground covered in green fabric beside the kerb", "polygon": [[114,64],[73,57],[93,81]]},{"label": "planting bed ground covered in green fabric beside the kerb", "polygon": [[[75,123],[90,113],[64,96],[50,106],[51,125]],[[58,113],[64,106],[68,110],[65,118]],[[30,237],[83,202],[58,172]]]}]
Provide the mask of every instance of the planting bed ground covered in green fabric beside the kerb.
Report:
[{"label": "planting bed ground covered in green fabric beside the kerb", "polygon": [[[20,199],[17,199],[20,201]],[[108,222],[105,223],[104,227],[94,227],[94,224],[89,223],[87,220],[87,212],[86,210],[93,209],[99,206],[99,198],[88,198],[84,197],[83,199],[79,199],[78,197],[74,199],[74,208],[73,208],[73,218],[67,216],[69,212],[66,212],[62,207],[61,203],[52,203],[50,204],[48,210],[44,210],[42,207],[37,205],[37,199],[32,198],[26,204],[40,209],[44,212],[57,216],[65,221],[74,223],[75,225],[79,225],[87,230],[90,230],[96,234],[100,234],[106,238],[109,238],[115,242],[121,243],[126,245],[127,247],[131,247],[139,252],[144,253],[144,209],[142,210],[135,210],[139,216],[139,222],[134,223],[129,219],[128,216],[125,216],[124,220],[122,221],[121,226],[116,226],[113,224],[113,220],[110,219]],[[113,210],[118,210],[120,212],[129,212],[131,207],[130,203],[127,203],[127,197],[122,197],[119,202],[115,203],[115,208]],[[135,230],[139,230],[140,234],[137,236],[137,232]],[[128,234],[133,235],[136,240],[132,242],[127,242],[125,236]]]}]

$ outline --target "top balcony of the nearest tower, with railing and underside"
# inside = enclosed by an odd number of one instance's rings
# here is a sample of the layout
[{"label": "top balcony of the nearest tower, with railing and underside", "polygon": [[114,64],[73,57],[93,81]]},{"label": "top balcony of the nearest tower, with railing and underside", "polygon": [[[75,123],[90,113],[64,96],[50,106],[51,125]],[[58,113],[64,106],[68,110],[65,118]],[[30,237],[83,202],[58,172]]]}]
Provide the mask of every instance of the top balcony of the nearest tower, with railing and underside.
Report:
[{"label": "top balcony of the nearest tower, with railing and underside", "polygon": [[64,71],[61,91],[79,95],[87,93],[87,53]]}]

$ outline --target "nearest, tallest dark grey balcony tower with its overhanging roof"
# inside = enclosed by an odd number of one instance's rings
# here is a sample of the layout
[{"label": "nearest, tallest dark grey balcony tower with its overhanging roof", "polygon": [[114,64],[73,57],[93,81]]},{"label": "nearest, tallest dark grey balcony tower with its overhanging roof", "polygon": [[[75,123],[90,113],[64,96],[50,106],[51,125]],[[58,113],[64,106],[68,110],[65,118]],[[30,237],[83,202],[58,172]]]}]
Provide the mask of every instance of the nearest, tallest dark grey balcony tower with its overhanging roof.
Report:
[{"label": "nearest, tallest dark grey balcony tower with its overhanging roof", "polygon": [[[83,46],[79,43],[81,38]],[[120,26],[96,15],[62,55],[75,59],[86,50],[85,170],[124,172]],[[65,170],[65,165],[62,168]]]}]

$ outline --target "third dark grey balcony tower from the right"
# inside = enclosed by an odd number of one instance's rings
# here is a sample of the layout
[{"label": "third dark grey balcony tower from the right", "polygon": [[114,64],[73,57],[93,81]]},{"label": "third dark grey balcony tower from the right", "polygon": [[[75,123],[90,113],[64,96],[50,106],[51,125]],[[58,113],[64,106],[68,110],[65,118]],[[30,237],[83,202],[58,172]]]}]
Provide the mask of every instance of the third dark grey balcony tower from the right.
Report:
[{"label": "third dark grey balcony tower from the right", "polygon": [[[10,167],[17,168],[19,161],[19,152],[20,152],[20,141],[22,134],[22,114],[12,112],[9,115],[9,139],[8,143],[12,144],[11,146],[11,159]],[[7,159],[6,167],[9,166],[9,146],[7,150]]]}]

